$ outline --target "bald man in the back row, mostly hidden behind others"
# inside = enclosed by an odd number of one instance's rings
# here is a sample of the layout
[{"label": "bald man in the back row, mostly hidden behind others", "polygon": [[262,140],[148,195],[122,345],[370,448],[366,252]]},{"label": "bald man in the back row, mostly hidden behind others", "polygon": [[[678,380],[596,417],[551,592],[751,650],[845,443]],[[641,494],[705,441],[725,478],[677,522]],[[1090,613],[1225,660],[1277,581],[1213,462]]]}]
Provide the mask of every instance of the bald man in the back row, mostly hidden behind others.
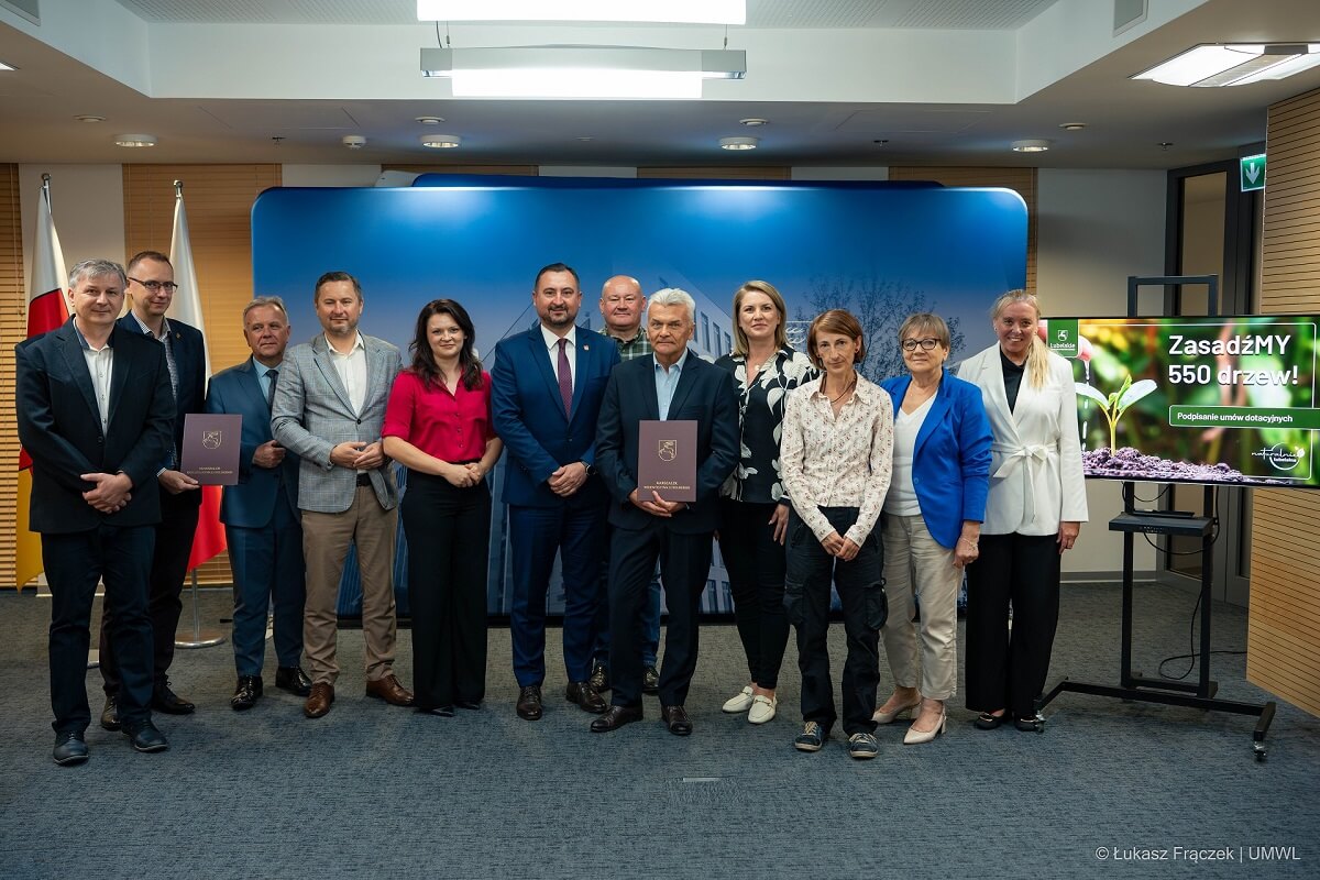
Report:
[{"label": "bald man in the back row, mostly hidden behind others", "polygon": [[[619,347],[620,360],[632,360],[651,354],[642,315],[647,310],[647,298],[642,284],[626,274],[616,274],[601,288],[601,317],[605,319],[602,332]],[[609,529],[609,522],[606,522]],[[601,608],[595,615],[595,648],[593,653],[591,686],[598,691],[610,689],[610,538],[605,540],[605,561],[601,566]],[[655,694],[660,689],[660,672],[656,669],[660,653],[660,574],[651,578],[647,603],[642,610],[642,693]]]}]

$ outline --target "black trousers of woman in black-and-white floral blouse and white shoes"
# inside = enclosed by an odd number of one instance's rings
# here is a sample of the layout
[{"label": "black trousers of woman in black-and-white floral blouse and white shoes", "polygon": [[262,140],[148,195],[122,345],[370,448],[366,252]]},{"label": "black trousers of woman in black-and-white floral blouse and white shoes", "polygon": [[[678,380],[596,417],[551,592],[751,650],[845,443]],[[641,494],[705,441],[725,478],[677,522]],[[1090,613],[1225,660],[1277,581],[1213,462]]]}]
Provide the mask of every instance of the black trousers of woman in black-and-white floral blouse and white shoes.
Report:
[{"label": "black trousers of woman in black-and-white floral blouse and white shoes", "polygon": [[752,683],[768,690],[779,686],[779,668],[788,648],[785,551],[770,525],[777,508],[719,499],[719,555],[729,571],[738,637]]}]

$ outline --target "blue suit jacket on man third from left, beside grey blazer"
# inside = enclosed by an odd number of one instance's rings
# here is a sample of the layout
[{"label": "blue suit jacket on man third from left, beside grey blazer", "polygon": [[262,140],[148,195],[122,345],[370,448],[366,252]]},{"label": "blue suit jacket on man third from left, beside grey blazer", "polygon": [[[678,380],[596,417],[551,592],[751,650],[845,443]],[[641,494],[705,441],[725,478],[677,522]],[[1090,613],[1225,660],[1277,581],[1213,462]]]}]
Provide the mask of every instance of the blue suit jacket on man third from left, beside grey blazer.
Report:
[{"label": "blue suit jacket on man third from left, beside grey blazer", "polygon": [[256,367],[248,358],[211,376],[206,392],[206,412],[230,413],[243,417],[243,435],[239,441],[239,482],[226,486],[220,500],[220,522],[244,529],[261,529],[271,524],[275,505],[280,501],[280,482],[286,489],[284,503],[289,513],[298,519],[298,456],[285,450],[280,467],[255,467],[252,454],[261,443],[271,441],[271,410],[261,393]]}]

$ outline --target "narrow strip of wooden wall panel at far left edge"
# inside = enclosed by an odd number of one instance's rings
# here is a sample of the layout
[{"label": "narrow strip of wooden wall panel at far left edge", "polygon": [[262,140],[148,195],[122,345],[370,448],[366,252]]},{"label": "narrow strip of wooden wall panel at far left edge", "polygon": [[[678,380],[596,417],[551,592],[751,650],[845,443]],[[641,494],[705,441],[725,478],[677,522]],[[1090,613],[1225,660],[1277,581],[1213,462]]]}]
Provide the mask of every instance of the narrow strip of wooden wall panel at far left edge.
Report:
[{"label": "narrow strip of wooden wall panel at far left edge", "polygon": [[[0,587],[15,586],[15,493],[18,491],[18,429],[13,414],[13,347],[28,335],[22,281],[22,199],[18,166],[0,165]],[[36,210],[33,203],[33,210]]]}]

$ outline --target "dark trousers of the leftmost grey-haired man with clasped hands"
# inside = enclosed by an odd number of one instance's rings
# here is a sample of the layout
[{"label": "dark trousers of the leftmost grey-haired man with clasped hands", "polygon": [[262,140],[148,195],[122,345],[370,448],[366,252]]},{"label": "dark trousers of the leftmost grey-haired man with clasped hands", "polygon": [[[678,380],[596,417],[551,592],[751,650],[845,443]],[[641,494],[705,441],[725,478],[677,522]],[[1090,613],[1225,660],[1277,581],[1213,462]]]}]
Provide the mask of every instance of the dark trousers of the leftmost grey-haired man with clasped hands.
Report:
[{"label": "dark trousers of the leftmost grey-haired man with clasped hands", "polygon": [[91,722],[87,652],[92,598],[100,579],[106,581],[104,616],[114,620],[102,628],[102,637],[119,656],[119,718],[135,724],[152,716],[147,574],[154,542],[156,530],[149,525],[131,529],[103,525],[90,532],[41,536],[41,559],[51,598],[50,708],[55,714],[51,724],[55,732],[82,732]]}]

